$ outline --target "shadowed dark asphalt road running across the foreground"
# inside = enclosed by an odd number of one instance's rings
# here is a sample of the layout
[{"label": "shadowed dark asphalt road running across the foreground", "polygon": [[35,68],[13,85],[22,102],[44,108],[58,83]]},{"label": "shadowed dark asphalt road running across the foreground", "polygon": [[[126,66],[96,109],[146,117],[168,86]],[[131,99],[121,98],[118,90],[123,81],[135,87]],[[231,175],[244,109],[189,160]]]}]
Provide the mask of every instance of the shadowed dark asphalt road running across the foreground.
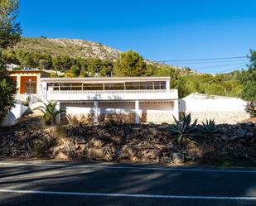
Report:
[{"label": "shadowed dark asphalt road running across the foreground", "polygon": [[0,160],[0,205],[256,205],[256,170]]}]

